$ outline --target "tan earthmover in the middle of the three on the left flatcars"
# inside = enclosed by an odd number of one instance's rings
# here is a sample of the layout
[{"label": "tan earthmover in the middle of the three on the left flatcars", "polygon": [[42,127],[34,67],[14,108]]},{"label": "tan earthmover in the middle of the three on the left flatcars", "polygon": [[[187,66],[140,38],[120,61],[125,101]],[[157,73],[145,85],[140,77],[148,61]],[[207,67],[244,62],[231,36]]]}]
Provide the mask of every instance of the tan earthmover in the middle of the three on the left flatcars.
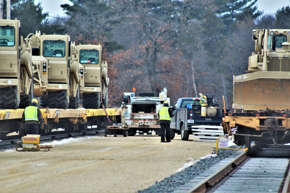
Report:
[{"label": "tan earthmover in the middle of the three on the left flatcars", "polygon": [[70,36],[41,35],[39,31],[26,40],[32,47],[34,96],[41,97],[40,105],[78,108],[79,72],[77,63],[70,62]]}]

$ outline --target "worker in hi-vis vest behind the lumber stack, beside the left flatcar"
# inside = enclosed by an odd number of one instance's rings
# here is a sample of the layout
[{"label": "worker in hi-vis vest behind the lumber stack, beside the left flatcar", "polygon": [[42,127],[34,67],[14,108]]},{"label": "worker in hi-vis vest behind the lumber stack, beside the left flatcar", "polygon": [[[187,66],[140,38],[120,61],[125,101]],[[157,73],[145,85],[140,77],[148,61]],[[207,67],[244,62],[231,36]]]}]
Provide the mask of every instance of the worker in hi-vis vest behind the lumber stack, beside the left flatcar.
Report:
[{"label": "worker in hi-vis vest behind the lumber stack, beside the left flatcar", "polygon": [[37,102],[38,101],[36,99],[32,99],[31,105],[26,107],[22,114],[21,129],[23,129],[25,125],[26,135],[37,135],[39,125],[40,128],[43,129],[43,119],[40,109],[38,109],[38,107],[36,106]]}]

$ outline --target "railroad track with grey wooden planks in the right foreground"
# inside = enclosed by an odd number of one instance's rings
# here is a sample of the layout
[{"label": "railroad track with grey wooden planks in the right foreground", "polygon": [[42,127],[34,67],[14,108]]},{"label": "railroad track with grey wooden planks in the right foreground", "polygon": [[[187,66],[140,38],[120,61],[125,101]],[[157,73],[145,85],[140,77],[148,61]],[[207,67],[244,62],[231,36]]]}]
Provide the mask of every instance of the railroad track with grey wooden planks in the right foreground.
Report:
[{"label": "railroad track with grey wooden planks in the right foreground", "polygon": [[201,174],[175,193],[290,192],[290,146],[254,145],[249,151],[239,152],[224,166],[214,166],[220,169]]}]

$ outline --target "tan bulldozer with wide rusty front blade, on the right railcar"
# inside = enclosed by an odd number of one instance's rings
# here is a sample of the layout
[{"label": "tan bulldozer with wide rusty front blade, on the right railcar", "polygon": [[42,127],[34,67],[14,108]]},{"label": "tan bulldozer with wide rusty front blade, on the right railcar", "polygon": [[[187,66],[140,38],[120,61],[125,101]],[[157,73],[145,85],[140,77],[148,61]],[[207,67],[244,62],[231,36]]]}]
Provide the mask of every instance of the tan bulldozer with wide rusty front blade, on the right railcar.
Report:
[{"label": "tan bulldozer with wide rusty front blade, on the right railcar", "polygon": [[290,30],[253,30],[248,73],[234,76],[233,109],[290,107]]}]

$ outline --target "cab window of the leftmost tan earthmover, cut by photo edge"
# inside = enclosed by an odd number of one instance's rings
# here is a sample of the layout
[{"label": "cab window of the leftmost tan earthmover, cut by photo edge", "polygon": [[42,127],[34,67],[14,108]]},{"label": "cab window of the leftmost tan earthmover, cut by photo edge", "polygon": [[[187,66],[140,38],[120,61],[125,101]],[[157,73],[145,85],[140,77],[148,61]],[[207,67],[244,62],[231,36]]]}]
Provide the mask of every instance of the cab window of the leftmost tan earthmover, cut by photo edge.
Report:
[{"label": "cab window of the leftmost tan earthmover, cut by photo edge", "polygon": [[13,26],[0,27],[0,46],[15,45],[15,28]]}]

